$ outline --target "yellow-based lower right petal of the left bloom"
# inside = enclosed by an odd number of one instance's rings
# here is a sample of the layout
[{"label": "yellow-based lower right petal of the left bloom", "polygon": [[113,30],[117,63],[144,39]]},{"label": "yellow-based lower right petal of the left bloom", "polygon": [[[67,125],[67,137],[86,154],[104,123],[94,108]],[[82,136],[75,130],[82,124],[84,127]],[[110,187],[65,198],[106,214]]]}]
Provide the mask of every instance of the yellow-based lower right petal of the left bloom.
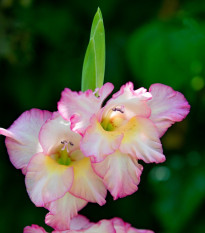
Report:
[{"label": "yellow-based lower right petal of the left bloom", "polygon": [[83,158],[73,162],[74,180],[70,192],[89,202],[105,204],[107,190],[102,179],[95,174],[90,159]]}]

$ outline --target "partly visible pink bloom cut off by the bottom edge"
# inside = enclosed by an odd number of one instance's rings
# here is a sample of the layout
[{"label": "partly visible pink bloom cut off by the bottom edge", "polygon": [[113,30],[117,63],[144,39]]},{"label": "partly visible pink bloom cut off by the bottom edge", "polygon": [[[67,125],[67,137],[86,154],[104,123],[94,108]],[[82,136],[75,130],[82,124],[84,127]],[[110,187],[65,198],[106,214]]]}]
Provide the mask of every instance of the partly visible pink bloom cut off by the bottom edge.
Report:
[{"label": "partly visible pink bloom cut off by the bottom edge", "polygon": [[[139,230],[129,223],[123,222],[120,218],[101,220],[98,223],[91,223],[84,216],[78,215],[71,220],[71,228],[67,231],[53,231],[53,233],[154,233],[151,230]],[[27,226],[23,233],[47,233],[37,225]]]}]

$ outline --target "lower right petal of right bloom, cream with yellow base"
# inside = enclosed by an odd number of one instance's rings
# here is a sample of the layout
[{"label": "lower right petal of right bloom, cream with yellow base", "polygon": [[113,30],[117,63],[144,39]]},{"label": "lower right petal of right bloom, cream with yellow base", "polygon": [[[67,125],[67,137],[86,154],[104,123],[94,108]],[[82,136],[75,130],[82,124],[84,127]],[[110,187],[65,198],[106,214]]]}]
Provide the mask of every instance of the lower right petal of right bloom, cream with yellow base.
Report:
[{"label": "lower right petal of right bloom, cream with yellow base", "polygon": [[122,153],[142,159],[145,163],[161,163],[165,161],[158,131],[151,120],[133,117],[119,130],[124,133],[120,145]]}]

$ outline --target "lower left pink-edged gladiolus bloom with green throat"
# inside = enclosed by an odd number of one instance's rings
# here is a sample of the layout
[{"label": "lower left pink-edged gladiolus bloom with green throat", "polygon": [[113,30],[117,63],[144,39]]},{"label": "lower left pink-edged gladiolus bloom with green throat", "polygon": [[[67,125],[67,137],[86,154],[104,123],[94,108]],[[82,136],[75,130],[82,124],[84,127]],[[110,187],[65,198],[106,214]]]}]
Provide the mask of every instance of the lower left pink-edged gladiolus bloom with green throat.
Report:
[{"label": "lower left pink-edged gladiolus bloom with green throat", "polygon": [[79,148],[81,136],[58,113],[32,109],[0,133],[11,162],[26,175],[31,200],[50,211],[48,225],[67,230],[87,202],[105,204],[106,188]]}]

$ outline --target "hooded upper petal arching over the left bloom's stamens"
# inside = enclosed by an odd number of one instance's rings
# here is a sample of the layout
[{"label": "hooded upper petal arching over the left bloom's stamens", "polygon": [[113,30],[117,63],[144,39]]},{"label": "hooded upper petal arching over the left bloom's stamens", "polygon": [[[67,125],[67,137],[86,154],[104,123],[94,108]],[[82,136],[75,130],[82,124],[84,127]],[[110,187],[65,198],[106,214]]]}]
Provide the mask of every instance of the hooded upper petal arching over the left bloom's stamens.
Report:
[{"label": "hooded upper petal arching over the left bloom's stamens", "polygon": [[[55,113],[55,117],[48,120],[41,128],[39,141],[44,154],[51,155],[59,151],[66,141],[68,150],[72,151],[79,148],[81,136],[70,129],[70,122],[65,121],[60,114]],[[69,144],[69,142],[71,144]]]}]

